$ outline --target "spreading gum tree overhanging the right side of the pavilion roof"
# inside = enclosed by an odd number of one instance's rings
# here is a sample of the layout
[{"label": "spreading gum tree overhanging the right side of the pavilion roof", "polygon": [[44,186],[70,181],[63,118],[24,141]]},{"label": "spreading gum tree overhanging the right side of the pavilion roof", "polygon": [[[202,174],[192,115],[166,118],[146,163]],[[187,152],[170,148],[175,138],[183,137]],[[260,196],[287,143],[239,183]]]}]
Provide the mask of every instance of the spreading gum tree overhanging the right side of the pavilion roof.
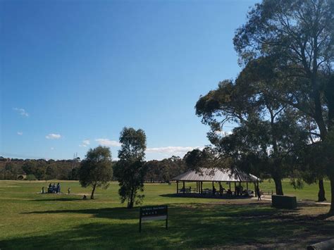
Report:
[{"label": "spreading gum tree overhanging the right side of the pavilion roof", "polygon": [[[225,80],[202,96],[196,113],[211,126],[208,137],[218,152],[234,160],[232,168],[270,175],[276,194],[283,195],[282,179],[289,170],[285,158],[305,144],[307,135],[297,125],[295,113],[259,91],[263,81],[246,77],[248,70],[254,70],[249,67],[235,82]],[[232,135],[221,137],[221,127],[230,121],[237,127]]]}]

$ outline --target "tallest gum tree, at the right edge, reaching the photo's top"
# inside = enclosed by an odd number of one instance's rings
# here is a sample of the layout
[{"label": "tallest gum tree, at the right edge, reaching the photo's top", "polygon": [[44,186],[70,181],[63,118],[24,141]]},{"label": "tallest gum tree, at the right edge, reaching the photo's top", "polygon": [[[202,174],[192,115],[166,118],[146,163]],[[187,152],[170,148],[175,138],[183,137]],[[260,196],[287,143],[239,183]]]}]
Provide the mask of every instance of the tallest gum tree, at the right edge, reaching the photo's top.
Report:
[{"label": "tallest gum tree, at the right edge, reaching the photo's top", "polygon": [[[264,0],[249,11],[247,18],[234,38],[240,62],[247,64],[261,56],[275,58],[275,68],[281,73],[276,97],[313,118],[321,140],[326,141],[333,130],[329,99],[333,98],[333,88],[328,87],[328,79],[334,65],[334,1]],[[309,106],[303,105],[305,100]],[[333,163],[328,163],[330,213],[334,213],[333,168]]]}]

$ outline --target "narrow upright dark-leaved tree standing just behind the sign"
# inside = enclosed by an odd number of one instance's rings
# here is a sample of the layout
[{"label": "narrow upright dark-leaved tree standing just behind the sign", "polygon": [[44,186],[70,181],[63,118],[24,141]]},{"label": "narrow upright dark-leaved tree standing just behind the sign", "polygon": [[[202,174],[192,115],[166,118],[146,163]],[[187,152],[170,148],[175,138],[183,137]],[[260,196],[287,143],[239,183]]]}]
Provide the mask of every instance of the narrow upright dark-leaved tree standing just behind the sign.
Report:
[{"label": "narrow upright dark-leaved tree standing just behind the sign", "polygon": [[132,127],[124,127],[120,132],[118,151],[119,161],[113,168],[114,175],[119,182],[120,201],[128,201],[128,208],[133,204],[140,204],[144,195],[137,194],[144,191],[144,177],[146,165],[144,164],[146,135],[144,130],[135,130]]}]

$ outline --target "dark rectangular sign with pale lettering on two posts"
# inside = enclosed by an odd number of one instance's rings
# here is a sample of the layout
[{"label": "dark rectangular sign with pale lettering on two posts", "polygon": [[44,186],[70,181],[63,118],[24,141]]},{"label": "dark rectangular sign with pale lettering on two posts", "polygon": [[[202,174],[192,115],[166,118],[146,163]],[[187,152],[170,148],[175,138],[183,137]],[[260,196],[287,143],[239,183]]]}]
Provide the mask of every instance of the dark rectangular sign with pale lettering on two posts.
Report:
[{"label": "dark rectangular sign with pale lettering on two posts", "polygon": [[140,232],[143,220],[166,220],[168,229],[168,206],[142,206],[140,207]]}]

